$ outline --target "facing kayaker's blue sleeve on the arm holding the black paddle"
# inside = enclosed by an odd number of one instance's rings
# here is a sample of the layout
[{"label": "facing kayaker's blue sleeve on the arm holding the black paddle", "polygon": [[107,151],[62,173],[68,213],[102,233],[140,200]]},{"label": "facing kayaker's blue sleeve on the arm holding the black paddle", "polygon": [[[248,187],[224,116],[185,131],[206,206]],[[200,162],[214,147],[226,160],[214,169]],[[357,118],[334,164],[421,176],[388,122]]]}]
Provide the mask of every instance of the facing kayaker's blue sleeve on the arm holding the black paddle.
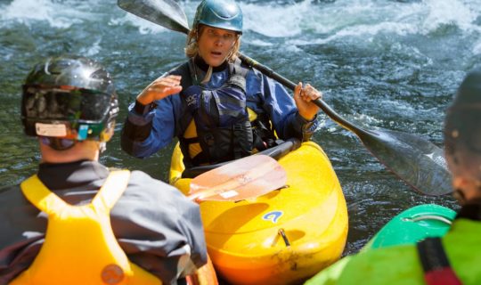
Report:
[{"label": "facing kayaker's blue sleeve on the arm holding the black paddle", "polygon": [[[307,121],[298,113],[296,102],[288,91],[270,77],[251,70],[247,77],[249,101],[257,102],[257,113],[264,110],[271,121],[275,132],[281,139],[296,137],[308,141],[317,127],[317,117]],[[258,110],[260,104],[262,110]],[[252,106],[249,105],[249,108]],[[256,109],[256,107],[254,107]]]}]

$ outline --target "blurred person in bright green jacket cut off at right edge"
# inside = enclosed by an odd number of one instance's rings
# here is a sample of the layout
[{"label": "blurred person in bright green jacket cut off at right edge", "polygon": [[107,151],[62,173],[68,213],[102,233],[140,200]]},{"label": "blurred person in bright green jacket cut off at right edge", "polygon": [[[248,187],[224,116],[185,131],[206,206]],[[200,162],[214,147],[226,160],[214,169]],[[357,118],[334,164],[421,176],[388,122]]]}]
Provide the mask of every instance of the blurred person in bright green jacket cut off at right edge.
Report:
[{"label": "blurred person in bright green jacket cut off at right edge", "polygon": [[447,110],[444,145],[461,204],[450,231],[345,257],[306,284],[481,284],[481,69],[464,79]]}]

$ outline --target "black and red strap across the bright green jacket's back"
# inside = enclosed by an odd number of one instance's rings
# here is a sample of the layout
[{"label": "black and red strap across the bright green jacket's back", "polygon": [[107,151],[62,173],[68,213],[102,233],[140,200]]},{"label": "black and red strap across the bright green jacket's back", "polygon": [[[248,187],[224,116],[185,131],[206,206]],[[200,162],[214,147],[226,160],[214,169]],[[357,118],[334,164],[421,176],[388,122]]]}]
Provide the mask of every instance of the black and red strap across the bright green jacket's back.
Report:
[{"label": "black and red strap across the bright green jacket's back", "polygon": [[428,238],[417,243],[418,255],[428,285],[461,285],[449,264],[440,238]]}]

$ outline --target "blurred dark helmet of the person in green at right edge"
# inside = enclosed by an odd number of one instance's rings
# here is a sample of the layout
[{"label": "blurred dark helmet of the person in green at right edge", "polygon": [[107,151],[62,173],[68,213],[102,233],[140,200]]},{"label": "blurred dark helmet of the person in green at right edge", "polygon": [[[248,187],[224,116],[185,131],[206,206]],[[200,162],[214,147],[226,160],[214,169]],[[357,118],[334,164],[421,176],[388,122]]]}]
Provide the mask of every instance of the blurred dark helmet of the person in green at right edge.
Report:
[{"label": "blurred dark helmet of the person in green at right edge", "polygon": [[464,78],[447,111],[444,145],[453,175],[481,181],[481,69]]}]

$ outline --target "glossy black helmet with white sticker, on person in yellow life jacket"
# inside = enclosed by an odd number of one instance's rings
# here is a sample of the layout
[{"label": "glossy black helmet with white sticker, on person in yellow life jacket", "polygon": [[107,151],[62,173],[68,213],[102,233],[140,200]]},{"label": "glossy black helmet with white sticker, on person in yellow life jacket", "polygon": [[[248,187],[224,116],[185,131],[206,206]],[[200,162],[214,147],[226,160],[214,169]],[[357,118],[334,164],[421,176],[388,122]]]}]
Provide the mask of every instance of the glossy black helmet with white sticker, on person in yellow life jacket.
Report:
[{"label": "glossy black helmet with white sticker, on person in yellow life jacket", "polygon": [[83,57],[39,63],[23,85],[21,120],[28,135],[107,142],[117,115],[110,74]]}]

